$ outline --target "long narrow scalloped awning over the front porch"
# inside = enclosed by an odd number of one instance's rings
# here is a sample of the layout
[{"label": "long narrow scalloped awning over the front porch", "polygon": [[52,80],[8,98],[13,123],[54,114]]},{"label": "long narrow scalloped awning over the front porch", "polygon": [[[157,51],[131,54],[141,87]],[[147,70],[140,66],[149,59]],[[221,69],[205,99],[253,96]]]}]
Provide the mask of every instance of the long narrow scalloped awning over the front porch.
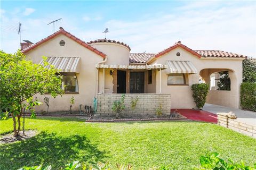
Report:
[{"label": "long narrow scalloped awning over the front porch", "polygon": [[167,65],[157,64],[157,65],[107,65],[107,64],[96,64],[96,68],[105,69],[166,69]]}]

